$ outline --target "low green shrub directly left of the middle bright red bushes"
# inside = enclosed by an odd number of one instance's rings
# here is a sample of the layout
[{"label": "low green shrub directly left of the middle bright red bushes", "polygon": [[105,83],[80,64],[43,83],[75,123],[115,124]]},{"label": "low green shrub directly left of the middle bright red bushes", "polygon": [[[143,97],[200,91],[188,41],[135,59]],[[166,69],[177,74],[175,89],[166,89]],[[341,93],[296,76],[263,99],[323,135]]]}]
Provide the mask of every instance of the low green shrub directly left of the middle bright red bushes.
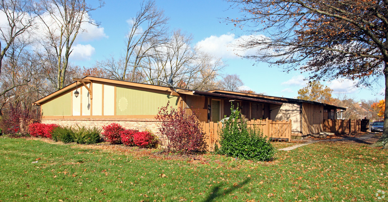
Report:
[{"label": "low green shrub directly left of the middle bright red bushes", "polygon": [[94,144],[100,140],[101,129],[96,127],[86,128],[85,126],[78,126],[74,130],[74,141],[78,144]]}]

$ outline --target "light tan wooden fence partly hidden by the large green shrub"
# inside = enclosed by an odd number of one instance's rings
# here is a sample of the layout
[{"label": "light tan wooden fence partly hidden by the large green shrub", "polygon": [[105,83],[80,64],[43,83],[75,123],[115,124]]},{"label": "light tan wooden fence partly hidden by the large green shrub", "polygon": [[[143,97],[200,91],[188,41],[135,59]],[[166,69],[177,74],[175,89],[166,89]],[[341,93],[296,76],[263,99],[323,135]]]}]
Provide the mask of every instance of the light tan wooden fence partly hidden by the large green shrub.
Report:
[{"label": "light tan wooden fence partly hidden by the large green shrub", "polygon": [[[210,123],[201,123],[204,137],[203,137],[203,150],[206,151],[214,151],[214,147],[217,144],[218,148],[220,148],[220,133],[222,128],[221,122],[210,122]],[[251,120],[248,121],[247,127],[249,128],[257,128],[263,133],[263,136],[267,136],[267,140],[269,138],[276,140],[287,140],[288,142],[291,140],[291,119],[289,121],[272,121],[270,119],[265,120]]]}]

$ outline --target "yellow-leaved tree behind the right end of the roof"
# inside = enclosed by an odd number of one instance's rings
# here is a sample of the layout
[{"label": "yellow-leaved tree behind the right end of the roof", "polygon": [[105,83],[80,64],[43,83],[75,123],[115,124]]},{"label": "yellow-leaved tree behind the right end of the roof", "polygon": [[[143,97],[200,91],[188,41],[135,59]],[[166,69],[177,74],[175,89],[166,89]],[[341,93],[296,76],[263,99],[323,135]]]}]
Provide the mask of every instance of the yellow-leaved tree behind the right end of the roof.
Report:
[{"label": "yellow-leaved tree behind the right end of the roof", "polygon": [[314,102],[322,102],[330,104],[331,93],[333,92],[327,86],[323,86],[319,81],[311,81],[307,83],[307,86],[298,90],[298,99],[310,100]]}]

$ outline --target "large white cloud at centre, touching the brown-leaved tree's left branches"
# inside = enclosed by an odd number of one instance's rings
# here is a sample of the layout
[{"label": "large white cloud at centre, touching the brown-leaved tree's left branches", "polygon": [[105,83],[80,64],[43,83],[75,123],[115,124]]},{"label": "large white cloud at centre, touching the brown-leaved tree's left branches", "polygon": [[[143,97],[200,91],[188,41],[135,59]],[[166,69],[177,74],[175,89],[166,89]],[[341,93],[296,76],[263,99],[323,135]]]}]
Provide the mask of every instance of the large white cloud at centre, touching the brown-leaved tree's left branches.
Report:
[{"label": "large white cloud at centre, touching the brown-leaved tree's left branches", "polygon": [[244,35],[236,38],[234,34],[226,34],[221,36],[210,36],[202,41],[199,41],[196,46],[202,51],[222,58],[236,58],[238,55],[253,55],[256,52],[255,48],[244,50],[237,47],[241,41],[244,42],[248,38],[264,38],[263,35]]}]

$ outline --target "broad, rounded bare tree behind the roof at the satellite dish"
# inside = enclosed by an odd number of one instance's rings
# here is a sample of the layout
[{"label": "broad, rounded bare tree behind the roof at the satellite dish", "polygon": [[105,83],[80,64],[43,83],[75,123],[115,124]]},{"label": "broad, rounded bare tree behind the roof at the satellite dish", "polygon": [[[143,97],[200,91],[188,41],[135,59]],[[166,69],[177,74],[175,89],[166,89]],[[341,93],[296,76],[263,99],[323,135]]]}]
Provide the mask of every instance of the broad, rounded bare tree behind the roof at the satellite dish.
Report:
[{"label": "broad, rounded bare tree behind the roof at the satellite dish", "polygon": [[192,47],[192,36],[174,30],[168,40],[151,50],[152,56],[145,57],[141,63],[144,83],[165,85],[158,78],[167,81],[172,75],[180,88],[193,90],[208,89],[215,86],[215,79],[225,67],[221,59]]}]

